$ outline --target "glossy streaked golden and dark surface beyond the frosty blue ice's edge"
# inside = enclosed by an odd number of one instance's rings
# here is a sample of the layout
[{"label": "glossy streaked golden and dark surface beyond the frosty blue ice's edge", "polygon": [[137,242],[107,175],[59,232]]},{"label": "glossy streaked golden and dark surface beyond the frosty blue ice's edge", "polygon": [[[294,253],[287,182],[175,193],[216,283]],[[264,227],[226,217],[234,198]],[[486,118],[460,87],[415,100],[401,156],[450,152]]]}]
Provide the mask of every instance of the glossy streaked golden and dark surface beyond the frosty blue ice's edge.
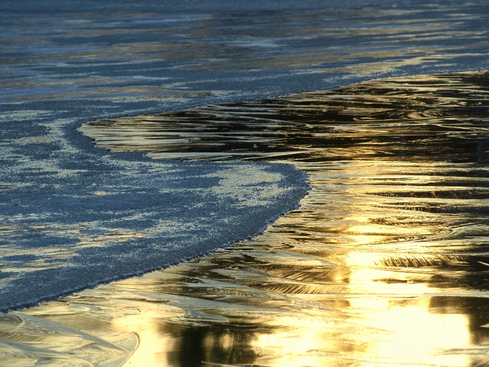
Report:
[{"label": "glossy streaked golden and dark surface beyond the frosty blue ice's edge", "polygon": [[0,360],[489,365],[488,97],[489,73],[421,75],[83,125],[154,159],[293,163],[312,190],[258,237],[2,316]]}]

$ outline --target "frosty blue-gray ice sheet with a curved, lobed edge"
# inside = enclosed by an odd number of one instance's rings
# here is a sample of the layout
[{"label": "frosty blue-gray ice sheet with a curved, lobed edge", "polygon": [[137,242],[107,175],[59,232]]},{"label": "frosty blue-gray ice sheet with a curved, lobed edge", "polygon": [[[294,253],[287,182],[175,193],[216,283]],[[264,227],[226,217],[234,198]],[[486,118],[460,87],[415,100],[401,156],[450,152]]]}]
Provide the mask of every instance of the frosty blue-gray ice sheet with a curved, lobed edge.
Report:
[{"label": "frosty blue-gray ice sheet with a curved, lobed edge", "polygon": [[0,309],[167,266],[306,194],[280,164],[93,148],[107,117],[489,69],[489,3],[0,2]]}]

